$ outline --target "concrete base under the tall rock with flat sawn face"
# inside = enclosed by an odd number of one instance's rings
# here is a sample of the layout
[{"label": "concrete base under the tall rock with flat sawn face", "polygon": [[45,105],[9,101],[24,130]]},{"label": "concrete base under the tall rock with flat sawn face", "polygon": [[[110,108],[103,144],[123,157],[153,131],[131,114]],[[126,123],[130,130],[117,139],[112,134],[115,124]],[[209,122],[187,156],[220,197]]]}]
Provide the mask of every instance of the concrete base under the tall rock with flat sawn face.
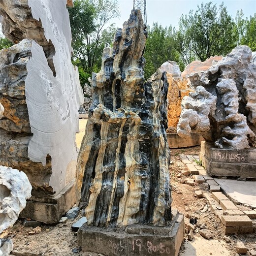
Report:
[{"label": "concrete base under the tall rock with flat sawn face", "polygon": [[58,223],[61,217],[76,203],[75,179],[55,197],[34,197],[27,200],[19,218],[32,219],[45,224]]}]

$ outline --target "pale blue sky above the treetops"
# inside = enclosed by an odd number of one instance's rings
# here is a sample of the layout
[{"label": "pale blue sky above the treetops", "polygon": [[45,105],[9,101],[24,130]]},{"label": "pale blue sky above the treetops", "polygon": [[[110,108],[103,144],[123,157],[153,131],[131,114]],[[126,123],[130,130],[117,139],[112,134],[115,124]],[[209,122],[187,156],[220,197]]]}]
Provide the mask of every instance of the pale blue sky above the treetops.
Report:
[{"label": "pale blue sky above the treetops", "polygon": [[[191,9],[196,10],[197,5],[209,2],[209,0],[146,0],[148,25],[158,22],[163,27],[170,26],[178,28],[179,19],[182,14],[188,14]],[[256,13],[256,0],[212,0],[219,6],[224,2],[228,13],[235,18],[237,10],[243,9],[245,17]],[[121,17],[111,20],[117,27],[123,27],[128,20],[133,7],[133,0],[118,0]]]}]

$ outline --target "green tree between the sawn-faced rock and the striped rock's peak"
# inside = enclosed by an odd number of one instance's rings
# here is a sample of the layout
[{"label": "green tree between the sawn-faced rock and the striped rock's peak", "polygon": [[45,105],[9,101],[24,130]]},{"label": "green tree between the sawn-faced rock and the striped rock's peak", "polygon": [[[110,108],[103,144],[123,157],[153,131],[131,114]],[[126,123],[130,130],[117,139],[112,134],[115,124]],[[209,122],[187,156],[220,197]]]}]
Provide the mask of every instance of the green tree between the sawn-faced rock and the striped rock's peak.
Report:
[{"label": "green tree between the sawn-faced rock and the striped rock's peak", "polygon": [[80,82],[88,82],[92,72],[98,72],[104,47],[113,40],[109,21],[119,16],[117,0],[74,0],[68,8],[72,32],[73,63],[78,66]]}]

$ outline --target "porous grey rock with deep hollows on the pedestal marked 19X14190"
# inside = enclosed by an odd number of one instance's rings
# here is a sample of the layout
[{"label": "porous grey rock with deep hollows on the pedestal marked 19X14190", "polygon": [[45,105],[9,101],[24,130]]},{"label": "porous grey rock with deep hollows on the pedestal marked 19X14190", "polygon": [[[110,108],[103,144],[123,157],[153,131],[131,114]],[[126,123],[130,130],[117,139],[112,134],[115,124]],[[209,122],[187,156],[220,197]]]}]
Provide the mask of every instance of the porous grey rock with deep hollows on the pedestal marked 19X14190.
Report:
[{"label": "porous grey rock with deep hollows on the pedestal marked 19X14190", "polygon": [[256,145],[256,64],[248,46],[238,46],[193,79],[194,93],[182,100],[177,132],[201,132],[216,147]]}]

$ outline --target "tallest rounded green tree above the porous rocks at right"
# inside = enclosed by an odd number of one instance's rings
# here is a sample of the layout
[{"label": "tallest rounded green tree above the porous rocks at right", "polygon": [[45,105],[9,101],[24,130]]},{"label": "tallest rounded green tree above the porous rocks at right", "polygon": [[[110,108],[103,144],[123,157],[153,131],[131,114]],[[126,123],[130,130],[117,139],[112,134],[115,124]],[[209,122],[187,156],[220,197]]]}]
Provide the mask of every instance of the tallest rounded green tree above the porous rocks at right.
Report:
[{"label": "tallest rounded green tree above the porous rocks at right", "polygon": [[182,15],[177,33],[178,50],[189,64],[194,59],[205,61],[214,55],[226,55],[238,39],[236,24],[228,15],[224,3],[197,5],[197,10]]}]

